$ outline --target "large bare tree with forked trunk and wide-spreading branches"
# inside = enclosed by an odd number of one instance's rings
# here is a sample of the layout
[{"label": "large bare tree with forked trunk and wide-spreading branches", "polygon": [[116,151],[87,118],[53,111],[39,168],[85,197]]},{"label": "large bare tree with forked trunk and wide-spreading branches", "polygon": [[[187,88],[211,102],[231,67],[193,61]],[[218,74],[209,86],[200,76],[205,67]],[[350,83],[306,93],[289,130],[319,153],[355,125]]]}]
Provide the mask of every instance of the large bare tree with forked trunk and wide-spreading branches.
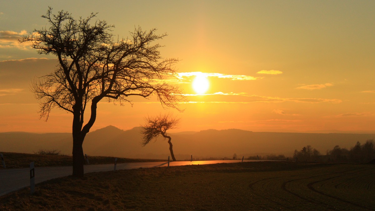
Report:
[{"label": "large bare tree with forked trunk and wide-spreading branches", "polygon": [[[177,108],[184,98],[177,86],[163,82],[164,76],[175,75],[177,59],[163,59],[159,44],[154,41],[166,36],[135,29],[128,39],[113,39],[114,26],[106,21],[87,18],[74,19],[60,11],[46,15],[49,28],[34,30],[20,42],[31,42],[39,54],[58,58],[55,71],[35,81],[32,87],[40,100],[40,118],[48,119],[55,107],[72,113],[73,176],[83,176],[82,144],[96,120],[98,102],[130,102],[129,96],[156,96],[163,106]],[[86,108],[90,106],[87,119]],[[85,124],[85,121],[86,124]]]}]

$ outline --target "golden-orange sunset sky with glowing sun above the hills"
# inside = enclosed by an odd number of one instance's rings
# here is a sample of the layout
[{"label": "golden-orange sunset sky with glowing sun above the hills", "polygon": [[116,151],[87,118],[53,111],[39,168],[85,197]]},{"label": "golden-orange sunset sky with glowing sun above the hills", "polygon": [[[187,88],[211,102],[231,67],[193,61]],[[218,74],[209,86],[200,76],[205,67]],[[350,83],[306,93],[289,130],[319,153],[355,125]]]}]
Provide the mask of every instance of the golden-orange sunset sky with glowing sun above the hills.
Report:
[{"label": "golden-orange sunset sky with glowing sun above the hills", "polygon": [[[153,99],[133,106],[102,101],[92,130],[123,130],[147,116],[172,113],[173,131],[375,131],[375,1],[8,1],[0,0],[0,132],[71,132],[72,115],[39,119],[30,91],[57,60],[17,40],[46,27],[54,12],[115,26],[167,33],[159,43],[189,100],[163,109]],[[200,79],[194,82],[195,78]],[[198,83],[199,82],[199,83]],[[171,81],[171,83],[175,83]],[[206,84],[194,89],[193,84]]]}]

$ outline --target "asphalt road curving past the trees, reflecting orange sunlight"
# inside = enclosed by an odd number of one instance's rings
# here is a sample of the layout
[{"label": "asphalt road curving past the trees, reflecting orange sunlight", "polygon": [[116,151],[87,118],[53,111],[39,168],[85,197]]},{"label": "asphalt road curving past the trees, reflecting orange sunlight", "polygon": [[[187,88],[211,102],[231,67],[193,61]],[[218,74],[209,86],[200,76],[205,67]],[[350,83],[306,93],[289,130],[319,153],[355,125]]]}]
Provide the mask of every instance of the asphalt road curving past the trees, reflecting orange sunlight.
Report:
[{"label": "asphalt road curving past the trees, reflecting orange sunlight", "polygon": [[[264,160],[244,160],[244,162],[254,162]],[[238,163],[241,160],[207,160],[207,161],[175,161],[170,162],[169,166],[184,166],[197,164],[214,163]],[[116,170],[120,169],[138,169],[168,166],[168,162],[143,162],[143,163],[117,163]],[[113,171],[114,164],[85,165],[84,172],[106,172]],[[54,178],[72,175],[72,166],[58,167],[36,167],[35,184]],[[1,169],[0,170],[0,196],[11,193],[21,188],[30,186],[30,169]]]}]

